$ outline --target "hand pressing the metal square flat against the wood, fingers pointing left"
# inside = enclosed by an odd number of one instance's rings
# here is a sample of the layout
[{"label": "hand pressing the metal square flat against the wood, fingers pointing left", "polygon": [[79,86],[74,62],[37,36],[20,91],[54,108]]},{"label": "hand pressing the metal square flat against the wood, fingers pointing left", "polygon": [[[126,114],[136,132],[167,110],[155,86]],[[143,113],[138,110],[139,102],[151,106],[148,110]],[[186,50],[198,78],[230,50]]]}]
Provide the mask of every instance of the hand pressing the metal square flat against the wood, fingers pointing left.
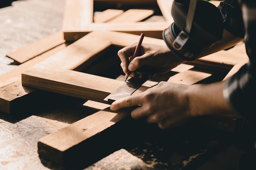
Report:
[{"label": "hand pressing the metal square flat against the wood, fingers pointing left", "polygon": [[110,109],[141,105],[132,110],[133,119],[147,117],[148,123],[157,123],[161,129],[177,127],[191,117],[189,97],[186,95],[188,87],[184,84],[160,82],[143,93],[113,102]]}]

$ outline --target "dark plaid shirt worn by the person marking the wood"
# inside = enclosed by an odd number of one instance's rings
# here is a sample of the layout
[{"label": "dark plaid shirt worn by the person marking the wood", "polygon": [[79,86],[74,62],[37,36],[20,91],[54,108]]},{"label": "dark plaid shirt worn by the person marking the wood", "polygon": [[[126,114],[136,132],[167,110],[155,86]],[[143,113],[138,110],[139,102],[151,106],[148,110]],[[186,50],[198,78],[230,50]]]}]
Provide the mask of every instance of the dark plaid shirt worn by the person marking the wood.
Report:
[{"label": "dark plaid shirt worn by the person marking the wood", "polygon": [[249,57],[249,62],[227,79],[223,89],[225,100],[245,119],[256,121],[256,0],[224,0],[218,8],[225,29],[245,38]]}]

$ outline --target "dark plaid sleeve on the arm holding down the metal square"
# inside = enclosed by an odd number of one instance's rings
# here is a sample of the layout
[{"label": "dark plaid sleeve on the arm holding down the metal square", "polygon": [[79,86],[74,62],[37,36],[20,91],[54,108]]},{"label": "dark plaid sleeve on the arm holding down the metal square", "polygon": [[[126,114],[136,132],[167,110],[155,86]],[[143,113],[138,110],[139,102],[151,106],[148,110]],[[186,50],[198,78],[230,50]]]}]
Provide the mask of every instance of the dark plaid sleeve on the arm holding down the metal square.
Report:
[{"label": "dark plaid sleeve on the arm holding down the metal square", "polygon": [[[253,4],[252,4],[253,2]],[[227,103],[248,120],[256,121],[256,1],[241,0],[245,23],[245,48],[249,62],[229,77],[223,89]]]}]

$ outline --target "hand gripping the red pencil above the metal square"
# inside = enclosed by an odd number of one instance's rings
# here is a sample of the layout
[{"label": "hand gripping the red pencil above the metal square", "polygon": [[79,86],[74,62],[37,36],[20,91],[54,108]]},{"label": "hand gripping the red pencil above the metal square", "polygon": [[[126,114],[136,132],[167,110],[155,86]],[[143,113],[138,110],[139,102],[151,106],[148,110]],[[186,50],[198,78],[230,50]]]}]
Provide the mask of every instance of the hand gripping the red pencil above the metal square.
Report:
[{"label": "hand gripping the red pencil above the metal square", "polygon": [[[157,73],[166,73],[172,68],[184,62],[184,60],[173,55],[166,45],[157,44],[141,44],[140,55],[130,62],[137,43],[126,46],[118,51],[121,60],[121,68],[124,73],[128,69],[132,71],[130,74],[134,78],[142,78],[144,75],[151,77]],[[130,64],[129,64],[130,63]]]}]

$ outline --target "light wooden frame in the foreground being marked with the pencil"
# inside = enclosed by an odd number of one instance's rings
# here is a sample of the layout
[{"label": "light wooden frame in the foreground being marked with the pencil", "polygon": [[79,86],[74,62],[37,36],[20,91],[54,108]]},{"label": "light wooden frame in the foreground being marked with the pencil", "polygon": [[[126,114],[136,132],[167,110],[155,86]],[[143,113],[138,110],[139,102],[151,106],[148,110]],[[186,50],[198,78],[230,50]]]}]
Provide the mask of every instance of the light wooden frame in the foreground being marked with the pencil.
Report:
[{"label": "light wooden frame in the foreground being marked with the pencil", "polygon": [[[83,68],[90,66],[93,61],[101,57],[113,45],[127,46],[137,42],[138,39],[139,35],[112,31],[93,31],[68,46],[65,50],[22,73],[22,85],[104,102],[103,99],[124,82],[73,70],[81,70],[81,66]],[[144,38],[144,43],[165,44],[163,40],[148,37]],[[244,53],[232,51],[236,51],[236,49],[220,51],[191,64],[207,65],[208,68],[213,68],[213,70],[230,70],[233,66],[238,68],[247,62],[247,56],[245,57]],[[61,64],[56,64],[60,61]],[[185,69],[185,71],[171,76],[167,81],[194,84],[206,77],[209,77],[208,73]],[[149,87],[150,85],[143,85],[135,91],[135,94],[141,93]],[[66,128],[39,139],[38,154],[40,157],[64,165],[81,162],[84,164],[92,163],[100,158],[92,157],[92,155],[97,154],[91,154],[91,152],[95,152],[99,146],[94,146],[91,142],[94,139],[99,141],[98,139],[101,139],[99,134],[110,132],[110,129],[120,128],[120,124],[117,123],[125,122],[129,115],[130,110],[117,112],[112,112],[109,108],[100,110]],[[75,156],[79,155],[78,152],[88,153],[88,157],[86,157],[88,162],[84,161],[85,158],[81,160],[79,156]],[[105,157],[106,155],[101,156]],[[89,159],[92,160],[89,161]]]}]

